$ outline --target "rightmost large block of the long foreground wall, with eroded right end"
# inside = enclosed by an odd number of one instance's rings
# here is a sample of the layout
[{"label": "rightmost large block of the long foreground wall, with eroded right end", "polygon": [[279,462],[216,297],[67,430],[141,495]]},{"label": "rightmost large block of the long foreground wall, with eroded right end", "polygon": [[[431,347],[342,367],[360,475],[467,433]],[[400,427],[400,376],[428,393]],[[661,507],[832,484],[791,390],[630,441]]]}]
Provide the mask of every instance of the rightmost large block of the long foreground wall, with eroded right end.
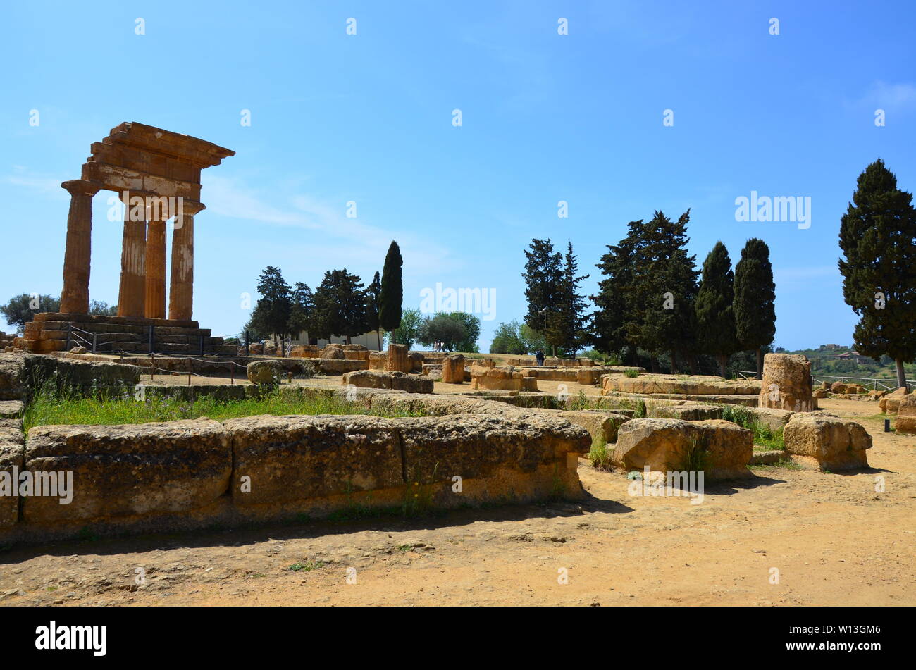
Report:
[{"label": "rightmost large block of the long foreground wall, with eroded right end", "polygon": [[[588,452],[592,438],[562,418],[455,415],[398,424],[409,484],[442,484],[445,504],[500,497],[521,502],[557,488],[567,497],[582,494],[578,456]],[[452,492],[455,476],[462,478],[461,494]]]}]

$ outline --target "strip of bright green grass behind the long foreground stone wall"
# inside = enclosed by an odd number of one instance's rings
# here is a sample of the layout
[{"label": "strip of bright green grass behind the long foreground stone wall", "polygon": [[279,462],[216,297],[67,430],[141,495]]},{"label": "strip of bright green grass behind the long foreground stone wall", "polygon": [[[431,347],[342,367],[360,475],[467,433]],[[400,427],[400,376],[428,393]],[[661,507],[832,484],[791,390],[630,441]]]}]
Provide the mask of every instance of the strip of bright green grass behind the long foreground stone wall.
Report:
[{"label": "strip of bright green grass behind the long foreground stone wall", "polygon": [[[148,390],[148,389],[147,389]],[[280,394],[279,389],[259,398],[224,400],[202,396],[193,401],[147,394],[138,401],[133,395],[86,398],[76,394],[60,394],[42,390],[27,405],[23,414],[26,432],[35,426],[93,425],[115,426],[142,424],[207,416],[217,421],[256,415],[344,415],[422,416],[420,412],[389,412],[368,409],[343,398],[329,395]]]}]

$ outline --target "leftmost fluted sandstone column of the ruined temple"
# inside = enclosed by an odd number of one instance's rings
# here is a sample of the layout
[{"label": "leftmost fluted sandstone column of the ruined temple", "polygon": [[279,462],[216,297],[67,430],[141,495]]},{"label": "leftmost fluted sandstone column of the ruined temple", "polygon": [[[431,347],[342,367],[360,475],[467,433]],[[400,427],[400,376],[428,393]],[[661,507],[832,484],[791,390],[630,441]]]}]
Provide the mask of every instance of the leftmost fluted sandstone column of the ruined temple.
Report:
[{"label": "leftmost fluted sandstone column of the ruined temple", "polygon": [[64,314],[89,313],[89,265],[93,244],[93,195],[99,185],[85,179],[60,184],[70,191],[67,214],[67,247],[63,256],[63,290],[60,311]]}]

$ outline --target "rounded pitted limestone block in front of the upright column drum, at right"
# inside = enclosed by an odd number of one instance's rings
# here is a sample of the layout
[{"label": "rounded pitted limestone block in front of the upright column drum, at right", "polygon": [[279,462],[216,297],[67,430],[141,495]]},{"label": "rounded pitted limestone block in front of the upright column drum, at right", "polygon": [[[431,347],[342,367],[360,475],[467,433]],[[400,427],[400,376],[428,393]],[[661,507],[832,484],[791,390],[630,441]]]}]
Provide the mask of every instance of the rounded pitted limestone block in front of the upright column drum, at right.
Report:
[{"label": "rounded pitted limestone block in front of the upright column drum, at right", "polygon": [[782,433],[786,451],[799,465],[820,470],[867,468],[871,436],[854,421],[836,416],[792,415]]}]

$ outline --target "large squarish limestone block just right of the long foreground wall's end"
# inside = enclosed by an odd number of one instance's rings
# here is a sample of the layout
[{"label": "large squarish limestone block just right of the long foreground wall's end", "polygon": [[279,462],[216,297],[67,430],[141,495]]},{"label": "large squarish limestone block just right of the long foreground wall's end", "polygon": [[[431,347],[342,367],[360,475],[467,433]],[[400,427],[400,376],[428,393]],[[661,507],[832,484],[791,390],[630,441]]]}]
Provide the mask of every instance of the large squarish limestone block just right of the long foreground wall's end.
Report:
[{"label": "large squarish limestone block just right of the long foreground wall's end", "polygon": [[751,476],[747,463],[753,449],[754,434],[730,421],[638,418],[619,428],[613,460],[625,470],[649,466],[653,473],[690,471],[699,464],[705,480],[726,480]]}]

